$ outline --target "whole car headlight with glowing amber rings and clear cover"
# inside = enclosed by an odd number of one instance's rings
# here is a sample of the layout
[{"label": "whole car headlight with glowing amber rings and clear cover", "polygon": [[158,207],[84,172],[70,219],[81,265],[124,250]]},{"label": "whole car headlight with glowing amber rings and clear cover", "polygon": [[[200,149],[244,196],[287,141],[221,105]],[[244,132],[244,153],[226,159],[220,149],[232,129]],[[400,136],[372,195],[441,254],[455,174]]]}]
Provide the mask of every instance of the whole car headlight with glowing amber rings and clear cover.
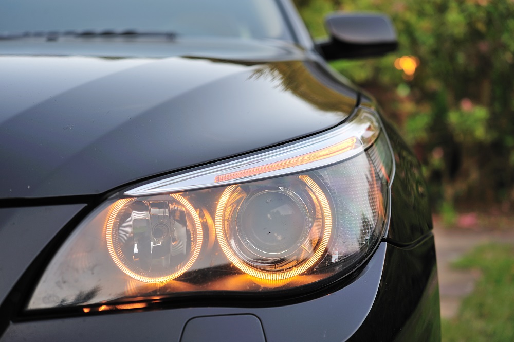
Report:
[{"label": "whole car headlight with glowing amber rings and clear cover", "polygon": [[360,107],[325,133],[129,189],[75,229],[27,308],[141,308],[335,281],[383,236],[393,173],[380,120]]}]

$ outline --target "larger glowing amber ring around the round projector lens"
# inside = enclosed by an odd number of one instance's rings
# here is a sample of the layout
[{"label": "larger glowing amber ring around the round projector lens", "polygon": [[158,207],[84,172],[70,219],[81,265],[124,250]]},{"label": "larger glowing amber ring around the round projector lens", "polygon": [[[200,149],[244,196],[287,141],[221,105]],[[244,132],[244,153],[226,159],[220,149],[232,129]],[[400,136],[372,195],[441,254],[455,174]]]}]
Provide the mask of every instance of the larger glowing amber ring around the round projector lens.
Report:
[{"label": "larger glowing amber ring around the round projector lens", "polygon": [[323,212],[323,237],[321,239],[321,243],[316,249],[313,256],[311,256],[309,259],[304,261],[303,263],[299,264],[297,267],[293,267],[290,271],[285,272],[267,272],[263,271],[262,269],[249,266],[248,264],[244,263],[240,258],[238,258],[235,253],[233,252],[232,248],[229,246],[229,243],[227,241],[227,238],[224,233],[224,227],[223,227],[223,217],[225,212],[225,207],[227,205],[227,201],[230,198],[230,195],[232,192],[239,186],[239,185],[231,185],[225,189],[223,192],[221,198],[219,199],[218,207],[216,209],[216,221],[215,221],[215,228],[216,228],[216,237],[219,242],[219,246],[222,248],[223,253],[225,253],[225,256],[236,266],[237,268],[241,269],[244,273],[260,279],[265,280],[285,280],[288,278],[295,277],[309,269],[310,267],[313,267],[316,262],[323,256],[325,253],[326,246],[328,245],[328,240],[331,237],[332,234],[332,214],[330,210],[330,205],[328,204],[328,200],[323,193],[323,190],[316,184],[316,182],[313,181],[309,176],[301,175],[300,179],[302,179],[307,186],[310,187],[311,190],[315,193],[316,197],[318,197],[318,200],[320,202],[322,212]]}]

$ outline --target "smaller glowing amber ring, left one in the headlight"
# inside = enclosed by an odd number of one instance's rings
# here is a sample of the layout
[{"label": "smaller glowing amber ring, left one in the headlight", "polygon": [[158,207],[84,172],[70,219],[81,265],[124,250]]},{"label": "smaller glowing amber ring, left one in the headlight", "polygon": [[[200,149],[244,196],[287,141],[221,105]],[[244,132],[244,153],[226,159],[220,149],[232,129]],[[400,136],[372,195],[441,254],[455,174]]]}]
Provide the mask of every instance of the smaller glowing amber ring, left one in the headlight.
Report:
[{"label": "smaller glowing amber ring, left one in the headlight", "polygon": [[109,215],[109,219],[107,220],[105,235],[106,235],[106,240],[107,240],[107,248],[109,250],[109,254],[111,255],[111,258],[113,258],[114,263],[127,276],[130,276],[130,277],[132,277],[132,278],[134,278],[136,280],[139,280],[139,281],[142,281],[142,282],[145,282],[145,283],[164,283],[164,282],[168,282],[170,280],[173,280],[173,279],[181,276],[183,273],[185,273],[189,268],[191,268],[193,263],[196,261],[196,258],[198,258],[198,255],[200,254],[201,243],[202,243],[202,240],[203,240],[203,231],[201,229],[201,223],[200,223],[200,219],[198,218],[198,214],[194,210],[193,206],[185,198],[183,198],[182,196],[177,195],[177,194],[171,194],[170,196],[173,197],[175,200],[177,200],[180,204],[182,204],[189,211],[191,216],[193,217],[193,221],[194,221],[195,226],[196,226],[196,244],[195,244],[195,247],[194,247],[193,254],[192,254],[191,258],[177,272],[175,272],[173,274],[170,274],[168,276],[164,276],[164,277],[145,277],[145,276],[141,276],[141,275],[131,271],[131,269],[128,269],[123,264],[123,262],[120,260],[118,255],[116,254],[116,250],[115,250],[114,245],[113,245],[113,226],[114,226],[114,222],[116,221],[116,216],[118,215],[120,210],[128,202],[133,200],[133,199],[121,199],[121,200],[116,201],[112,205],[112,212],[111,212],[111,215]]}]

